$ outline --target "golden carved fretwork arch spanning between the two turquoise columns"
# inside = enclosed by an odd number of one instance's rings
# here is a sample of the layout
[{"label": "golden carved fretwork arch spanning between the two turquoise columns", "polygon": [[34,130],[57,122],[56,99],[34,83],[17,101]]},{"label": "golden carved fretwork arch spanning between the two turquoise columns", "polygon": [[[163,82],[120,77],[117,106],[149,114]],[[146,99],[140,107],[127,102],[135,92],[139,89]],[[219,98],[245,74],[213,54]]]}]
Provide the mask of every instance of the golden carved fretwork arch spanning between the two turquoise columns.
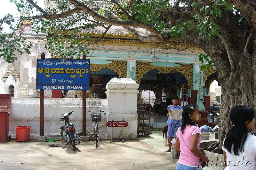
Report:
[{"label": "golden carved fretwork arch spanning between the two turquoise columns", "polygon": [[148,71],[151,71],[153,69],[159,70],[163,74],[170,73],[172,70],[177,70],[181,74],[185,75],[186,79],[188,80],[188,85],[191,90],[193,90],[193,65],[192,64],[179,64],[179,67],[161,67],[161,66],[153,66],[150,65],[152,62],[142,62],[137,61],[136,62],[136,82],[137,84],[140,84],[140,79],[143,77],[145,73]]}]

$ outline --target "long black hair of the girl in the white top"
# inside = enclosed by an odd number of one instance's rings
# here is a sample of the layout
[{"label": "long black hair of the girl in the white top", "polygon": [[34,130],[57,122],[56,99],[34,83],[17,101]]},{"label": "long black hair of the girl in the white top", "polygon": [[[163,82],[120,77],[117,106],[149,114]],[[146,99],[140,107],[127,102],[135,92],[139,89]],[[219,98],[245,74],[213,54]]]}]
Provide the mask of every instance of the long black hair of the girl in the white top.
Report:
[{"label": "long black hair of the girl in the white top", "polygon": [[229,119],[232,122],[230,125],[232,128],[228,131],[223,144],[228,152],[232,153],[232,145],[235,155],[239,155],[239,151],[244,152],[244,143],[248,135],[245,122],[248,121],[247,124],[252,122],[254,114],[254,110],[249,106],[235,106],[231,109]]}]

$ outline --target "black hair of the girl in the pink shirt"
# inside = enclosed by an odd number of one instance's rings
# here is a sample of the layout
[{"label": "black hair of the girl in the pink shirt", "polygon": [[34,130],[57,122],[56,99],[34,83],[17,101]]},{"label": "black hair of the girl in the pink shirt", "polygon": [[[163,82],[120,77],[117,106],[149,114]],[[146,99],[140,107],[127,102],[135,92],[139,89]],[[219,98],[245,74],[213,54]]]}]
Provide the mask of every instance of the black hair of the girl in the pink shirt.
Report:
[{"label": "black hair of the girl in the pink shirt", "polygon": [[195,112],[196,107],[198,106],[196,106],[195,104],[187,104],[186,106],[184,106],[182,111],[182,124],[180,128],[182,133],[187,124],[196,126],[196,124],[193,121],[191,121],[191,118],[189,117],[189,114],[193,114]]}]

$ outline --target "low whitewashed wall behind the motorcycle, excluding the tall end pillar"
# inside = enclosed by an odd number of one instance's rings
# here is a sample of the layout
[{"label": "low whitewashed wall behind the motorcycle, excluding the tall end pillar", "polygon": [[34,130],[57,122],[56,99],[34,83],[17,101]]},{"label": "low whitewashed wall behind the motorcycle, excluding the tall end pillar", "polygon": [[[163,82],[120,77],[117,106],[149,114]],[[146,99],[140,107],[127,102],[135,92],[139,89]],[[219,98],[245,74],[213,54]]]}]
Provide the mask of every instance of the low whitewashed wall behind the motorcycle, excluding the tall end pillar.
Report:
[{"label": "low whitewashed wall behind the motorcycle, excluding the tall end pillar", "polygon": [[[15,126],[31,126],[30,138],[40,135],[40,99],[39,98],[12,98],[12,107],[9,118],[9,134],[16,137]],[[104,110],[101,126],[107,122],[107,99],[86,99],[86,111]],[[82,99],[79,98],[44,98],[44,135],[58,138],[60,117],[68,111],[74,112],[69,116],[70,122],[76,124],[76,133],[82,132]],[[91,113],[86,113],[86,132],[93,130]],[[107,127],[100,128],[103,138],[107,138]]]}]

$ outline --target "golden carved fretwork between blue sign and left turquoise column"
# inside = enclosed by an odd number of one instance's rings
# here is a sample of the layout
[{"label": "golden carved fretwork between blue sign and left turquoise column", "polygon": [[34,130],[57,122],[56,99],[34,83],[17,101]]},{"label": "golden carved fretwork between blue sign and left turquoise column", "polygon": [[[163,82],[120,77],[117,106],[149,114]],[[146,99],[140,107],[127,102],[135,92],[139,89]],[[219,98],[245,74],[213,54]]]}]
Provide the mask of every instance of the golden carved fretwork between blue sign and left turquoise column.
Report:
[{"label": "golden carved fretwork between blue sign and left turquoise column", "polygon": [[127,61],[121,60],[107,60],[111,61],[109,64],[90,64],[90,70],[92,71],[100,71],[108,67],[111,70],[114,70],[118,73],[119,77],[126,78],[127,77]]}]

